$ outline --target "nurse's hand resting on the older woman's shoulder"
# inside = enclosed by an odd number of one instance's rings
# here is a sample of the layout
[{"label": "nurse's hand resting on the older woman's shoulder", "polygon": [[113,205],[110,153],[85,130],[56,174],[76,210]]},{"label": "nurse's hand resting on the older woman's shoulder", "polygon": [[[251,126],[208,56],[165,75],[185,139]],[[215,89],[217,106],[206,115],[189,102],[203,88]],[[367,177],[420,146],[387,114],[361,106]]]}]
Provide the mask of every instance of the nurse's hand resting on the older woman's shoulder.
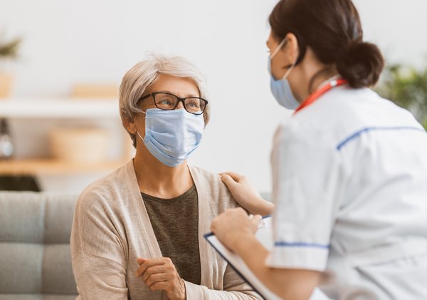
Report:
[{"label": "nurse's hand resting on the older woman's shoulder", "polygon": [[260,214],[262,216],[273,212],[273,203],[263,200],[258,190],[245,176],[234,172],[224,172],[219,175],[222,182],[230,190],[234,200],[245,210],[248,210],[251,214]]}]

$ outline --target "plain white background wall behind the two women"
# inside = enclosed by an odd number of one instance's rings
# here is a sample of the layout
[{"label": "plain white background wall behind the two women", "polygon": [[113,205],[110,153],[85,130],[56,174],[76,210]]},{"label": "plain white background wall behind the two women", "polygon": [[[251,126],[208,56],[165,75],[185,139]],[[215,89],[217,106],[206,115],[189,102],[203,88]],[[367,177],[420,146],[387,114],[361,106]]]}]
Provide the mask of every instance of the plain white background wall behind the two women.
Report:
[{"label": "plain white background wall behind the two women", "polygon": [[[427,1],[354,2],[367,40],[379,43],[391,61],[418,64],[423,59]],[[259,190],[269,191],[273,132],[289,115],[270,95],[266,71],[267,18],[274,4],[0,0],[0,30],[24,38],[14,66],[14,97],[65,96],[76,82],[119,84],[149,50],[186,56],[206,74],[212,107],[211,123],[191,163],[214,172],[241,172]]]}]

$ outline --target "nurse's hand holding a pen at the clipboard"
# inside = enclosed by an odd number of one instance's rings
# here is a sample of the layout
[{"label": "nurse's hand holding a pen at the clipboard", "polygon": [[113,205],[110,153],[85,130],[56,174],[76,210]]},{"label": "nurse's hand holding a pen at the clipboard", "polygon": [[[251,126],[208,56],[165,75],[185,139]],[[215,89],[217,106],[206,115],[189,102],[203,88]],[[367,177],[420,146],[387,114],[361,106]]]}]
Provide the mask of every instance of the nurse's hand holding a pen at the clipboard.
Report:
[{"label": "nurse's hand holding a pen at the clipboard", "polygon": [[211,230],[224,246],[235,251],[239,240],[255,234],[260,220],[259,214],[250,219],[241,207],[233,208],[218,215],[212,221]]}]

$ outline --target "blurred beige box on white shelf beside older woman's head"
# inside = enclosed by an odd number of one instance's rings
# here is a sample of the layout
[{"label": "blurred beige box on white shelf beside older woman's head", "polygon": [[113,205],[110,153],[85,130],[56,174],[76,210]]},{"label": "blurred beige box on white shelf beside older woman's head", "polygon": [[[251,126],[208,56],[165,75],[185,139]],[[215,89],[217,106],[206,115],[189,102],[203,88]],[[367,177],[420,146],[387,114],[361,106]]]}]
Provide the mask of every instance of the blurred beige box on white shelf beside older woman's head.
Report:
[{"label": "blurred beige box on white shelf beside older woman's head", "polygon": [[72,98],[119,98],[119,87],[115,84],[75,84]]}]

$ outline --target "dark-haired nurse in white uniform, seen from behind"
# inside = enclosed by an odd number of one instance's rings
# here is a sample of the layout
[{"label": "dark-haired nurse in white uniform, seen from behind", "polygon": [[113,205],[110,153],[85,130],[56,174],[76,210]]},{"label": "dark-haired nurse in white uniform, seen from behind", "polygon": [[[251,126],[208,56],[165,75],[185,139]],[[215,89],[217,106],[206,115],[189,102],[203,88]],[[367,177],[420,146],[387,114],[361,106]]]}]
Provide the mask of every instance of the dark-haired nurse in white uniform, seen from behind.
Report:
[{"label": "dark-haired nurse in white uniform, seen from behind", "polygon": [[[369,89],[384,65],[350,0],[282,0],[270,14],[273,95],[292,118],[275,133],[273,200],[221,175],[240,209],[212,231],[283,299],[427,299],[427,134]],[[398,37],[399,38],[399,37]]]}]

